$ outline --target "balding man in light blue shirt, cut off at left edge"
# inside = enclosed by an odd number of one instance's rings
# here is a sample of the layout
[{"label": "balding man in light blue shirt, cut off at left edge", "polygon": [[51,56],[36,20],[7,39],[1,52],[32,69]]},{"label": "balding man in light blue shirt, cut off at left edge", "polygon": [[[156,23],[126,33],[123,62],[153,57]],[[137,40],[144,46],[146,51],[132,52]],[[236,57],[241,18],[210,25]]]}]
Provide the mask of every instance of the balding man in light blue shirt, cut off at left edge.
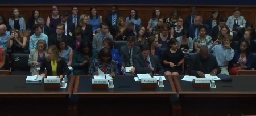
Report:
[{"label": "balding man in light blue shirt, cut off at left edge", "polygon": [[10,37],[10,32],[6,31],[7,27],[4,24],[0,25],[0,48],[7,50],[7,43]]}]

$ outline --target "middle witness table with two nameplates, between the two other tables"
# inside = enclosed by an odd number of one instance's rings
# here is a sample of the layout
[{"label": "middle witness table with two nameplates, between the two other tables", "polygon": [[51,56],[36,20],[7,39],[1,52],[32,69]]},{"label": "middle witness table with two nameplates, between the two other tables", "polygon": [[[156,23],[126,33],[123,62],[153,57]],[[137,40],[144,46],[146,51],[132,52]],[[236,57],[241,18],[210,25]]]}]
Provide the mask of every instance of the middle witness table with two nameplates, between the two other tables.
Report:
[{"label": "middle witness table with two nameplates, between the two other tables", "polygon": [[[171,97],[172,94],[177,94],[174,82],[170,76],[166,76],[166,80],[163,82],[164,88],[159,88],[158,86],[156,88],[141,88],[141,81],[134,81],[134,76],[116,76],[113,79],[114,88],[94,89],[92,88],[92,76],[77,76],[73,94],[76,94],[77,98],[147,98]],[[77,109],[77,104],[75,104],[74,108]],[[176,109],[172,113],[174,112],[176,113]]]}]

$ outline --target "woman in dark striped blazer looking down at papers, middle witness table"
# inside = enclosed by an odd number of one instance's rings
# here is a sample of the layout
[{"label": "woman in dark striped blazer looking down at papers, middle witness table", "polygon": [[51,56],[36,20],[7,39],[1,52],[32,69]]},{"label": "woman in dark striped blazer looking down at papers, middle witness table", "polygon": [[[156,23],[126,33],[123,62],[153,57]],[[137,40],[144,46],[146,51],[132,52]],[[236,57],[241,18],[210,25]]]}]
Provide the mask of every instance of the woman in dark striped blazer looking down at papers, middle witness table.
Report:
[{"label": "woman in dark striped blazer looking down at papers, middle witness table", "polygon": [[112,59],[109,48],[102,48],[98,53],[98,58],[92,60],[89,68],[90,75],[98,75],[98,69],[110,76],[119,75],[117,70],[117,63]]}]

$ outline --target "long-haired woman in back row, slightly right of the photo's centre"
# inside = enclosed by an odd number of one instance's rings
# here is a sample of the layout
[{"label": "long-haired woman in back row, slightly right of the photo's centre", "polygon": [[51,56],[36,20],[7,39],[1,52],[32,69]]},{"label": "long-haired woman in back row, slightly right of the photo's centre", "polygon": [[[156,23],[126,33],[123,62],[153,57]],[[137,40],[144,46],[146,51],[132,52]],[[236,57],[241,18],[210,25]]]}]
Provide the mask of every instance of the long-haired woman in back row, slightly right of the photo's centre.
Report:
[{"label": "long-haired woman in back row, slightly right of the photo's centre", "polygon": [[152,11],[152,16],[151,16],[150,20],[148,21],[147,30],[149,33],[151,33],[152,28],[154,28],[157,25],[158,18],[160,18],[160,10],[159,10],[159,8],[156,7]]}]

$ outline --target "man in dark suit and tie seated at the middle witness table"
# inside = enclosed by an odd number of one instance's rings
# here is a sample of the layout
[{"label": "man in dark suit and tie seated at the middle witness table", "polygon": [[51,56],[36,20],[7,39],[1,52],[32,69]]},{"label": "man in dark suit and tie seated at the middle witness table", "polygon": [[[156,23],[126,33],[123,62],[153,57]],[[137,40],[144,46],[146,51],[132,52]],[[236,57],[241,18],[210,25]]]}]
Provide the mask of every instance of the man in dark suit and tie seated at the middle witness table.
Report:
[{"label": "man in dark suit and tie seated at the middle witness table", "polygon": [[133,64],[136,74],[163,74],[163,67],[158,57],[150,54],[150,48],[147,44],[141,45],[141,54],[135,55]]}]

